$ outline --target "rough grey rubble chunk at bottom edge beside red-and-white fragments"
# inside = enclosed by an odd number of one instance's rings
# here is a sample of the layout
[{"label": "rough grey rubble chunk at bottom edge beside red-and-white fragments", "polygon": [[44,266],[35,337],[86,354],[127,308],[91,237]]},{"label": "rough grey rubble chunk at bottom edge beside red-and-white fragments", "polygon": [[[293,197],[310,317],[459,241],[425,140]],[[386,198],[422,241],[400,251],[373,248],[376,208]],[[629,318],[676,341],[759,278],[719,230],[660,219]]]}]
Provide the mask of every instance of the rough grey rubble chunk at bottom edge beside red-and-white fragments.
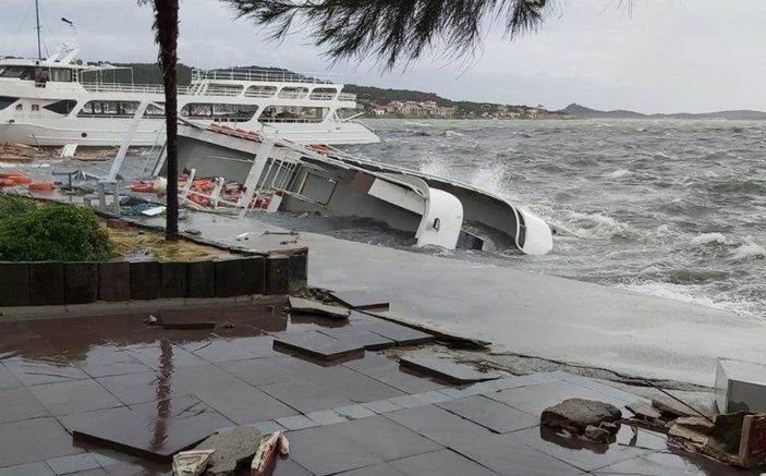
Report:
[{"label": "rough grey rubble chunk at bottom edge beside red-and-white fragments", "polygon": [[256,428],[236,427],[224,434],[210,435],[195,450],[216,450],[205,474],[230,475],[253,457],[259,441],[260,431]]}]

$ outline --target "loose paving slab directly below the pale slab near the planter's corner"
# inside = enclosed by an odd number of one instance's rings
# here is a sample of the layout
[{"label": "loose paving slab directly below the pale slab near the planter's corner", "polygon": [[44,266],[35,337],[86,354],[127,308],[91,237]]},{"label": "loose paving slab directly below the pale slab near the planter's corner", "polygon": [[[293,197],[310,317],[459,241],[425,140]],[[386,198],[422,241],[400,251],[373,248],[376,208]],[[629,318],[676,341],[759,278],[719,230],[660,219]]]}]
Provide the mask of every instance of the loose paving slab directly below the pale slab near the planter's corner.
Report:
[{"label": "loose paving slab directly below the pale slab near the planter's corner", "polygon": [[344,342],[317,331],[291,332],[273,340],[275,351],[288,351],[320,361],[364,357],[364,345]]}]

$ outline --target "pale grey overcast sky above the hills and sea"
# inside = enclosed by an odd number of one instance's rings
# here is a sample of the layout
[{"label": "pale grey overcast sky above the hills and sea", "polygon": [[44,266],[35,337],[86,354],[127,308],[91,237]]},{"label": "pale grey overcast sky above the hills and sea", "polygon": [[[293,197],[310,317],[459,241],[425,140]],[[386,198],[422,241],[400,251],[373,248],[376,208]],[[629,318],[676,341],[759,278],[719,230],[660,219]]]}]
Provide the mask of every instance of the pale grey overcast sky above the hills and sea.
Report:
[{"label": "pale grey overcast sky above the hills and sea", "polygon": [[[34,0],[2,0],[0,54],[35,56]],[[150,62],[151,9],[135,0],[39,0],[50,52],[77,27],[86,60]],[[570,102],[642,112],[766,110],[765,0],[559,0],[543,28],[512,42],[486,33],[467,62],[424,59],[381,73],[372,60],[336,66],[346,83],[410,88],[450,99],[511,105]],[[282,44],[218,0],[182,0],[181,61],[202,68],[259,64],[328,71],[300,32]],[[45,50],[44,50],[45,54]]]}]

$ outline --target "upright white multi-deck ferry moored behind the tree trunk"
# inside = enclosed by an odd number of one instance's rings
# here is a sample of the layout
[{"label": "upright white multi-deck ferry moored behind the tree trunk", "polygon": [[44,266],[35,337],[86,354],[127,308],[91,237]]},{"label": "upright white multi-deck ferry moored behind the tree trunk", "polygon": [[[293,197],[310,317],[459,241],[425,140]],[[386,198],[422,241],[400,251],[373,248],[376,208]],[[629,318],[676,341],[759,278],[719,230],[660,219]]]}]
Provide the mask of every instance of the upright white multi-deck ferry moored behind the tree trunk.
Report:
[{"label": "upright white multi-deck ferry moored behind the tree trunk", "polygon": [[[46,60],[0,59],[0,143],[114,146],[145,107],[132,145],[156,144],[165,131],[162,87],[135,85],[131,69],[88,64],[78,52],[65,44]],[[276,70],[194,70],[179,88],[179,114],[301,144],[379,142],[354,121],[356,97],[342,88],[327,76]]]}]

